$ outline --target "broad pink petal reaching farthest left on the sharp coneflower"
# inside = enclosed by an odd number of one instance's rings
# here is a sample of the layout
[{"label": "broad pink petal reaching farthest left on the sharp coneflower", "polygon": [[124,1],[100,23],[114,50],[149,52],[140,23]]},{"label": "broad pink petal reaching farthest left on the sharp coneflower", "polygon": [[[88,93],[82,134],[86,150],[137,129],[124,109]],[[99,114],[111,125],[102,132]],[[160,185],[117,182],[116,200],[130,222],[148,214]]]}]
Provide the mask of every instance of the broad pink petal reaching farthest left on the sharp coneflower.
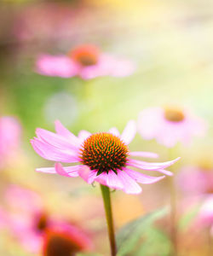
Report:
[{"label": "broad pink petal reaching farthest left on the sharp coneflower", "polygon": [[67,163],[79,161],[76,154],[71,154],[71,152],[66,152],[66,150],[60,150],[60,148],[54,148],[47,143],[43,143],[37,137],[31,140],[31,143],[37,154],[41,155],[44,159]]}]

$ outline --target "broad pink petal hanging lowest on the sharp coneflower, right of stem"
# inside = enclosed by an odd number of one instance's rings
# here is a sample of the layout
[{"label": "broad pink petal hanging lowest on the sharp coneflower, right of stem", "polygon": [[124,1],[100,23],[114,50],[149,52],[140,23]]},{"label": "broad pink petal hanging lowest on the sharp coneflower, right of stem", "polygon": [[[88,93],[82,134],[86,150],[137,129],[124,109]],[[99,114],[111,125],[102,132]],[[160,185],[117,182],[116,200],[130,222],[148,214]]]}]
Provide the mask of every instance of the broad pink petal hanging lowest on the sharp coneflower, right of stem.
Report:
[{"label": "broad pink petal hanging lowest on the sharp coneflower, right of stem", "polygon": [[118,178],[124,184],[124,192],[127,194],[139,194],[142,189],[135,180],[124,171],[118,171]]}]

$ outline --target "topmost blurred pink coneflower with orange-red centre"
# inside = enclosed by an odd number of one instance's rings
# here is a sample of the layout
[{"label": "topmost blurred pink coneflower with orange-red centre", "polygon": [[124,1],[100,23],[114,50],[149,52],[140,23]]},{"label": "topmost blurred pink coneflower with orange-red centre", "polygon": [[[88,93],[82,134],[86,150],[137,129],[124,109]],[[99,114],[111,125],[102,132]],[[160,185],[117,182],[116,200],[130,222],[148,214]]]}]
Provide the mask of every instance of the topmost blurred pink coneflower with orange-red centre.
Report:
[{"label": "topmost blurred pink coneflower with orange-red centre", "polygon": [[81,45],[67,55],[40,55],[36,70],[46,76],[94,79],[100,76],[129,76],[134,72],[135,65],[131,61],[118,60],[102,53],[94,45]]}]

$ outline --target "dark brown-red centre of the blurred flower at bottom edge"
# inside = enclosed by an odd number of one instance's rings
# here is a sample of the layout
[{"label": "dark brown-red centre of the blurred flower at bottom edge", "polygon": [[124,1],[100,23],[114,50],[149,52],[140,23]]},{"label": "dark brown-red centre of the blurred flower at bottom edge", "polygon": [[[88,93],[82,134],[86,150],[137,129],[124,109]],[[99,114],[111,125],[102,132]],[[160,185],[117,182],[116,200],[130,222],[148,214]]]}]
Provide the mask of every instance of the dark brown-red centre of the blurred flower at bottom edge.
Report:
[{"label": "dark brown-red centre of the blurred flower at bottom edge", "polygon": [[74,256],[81,247],[72,240],[72,237],[62,233],[49,233],[46,247],[44,248],[45,256]]}]

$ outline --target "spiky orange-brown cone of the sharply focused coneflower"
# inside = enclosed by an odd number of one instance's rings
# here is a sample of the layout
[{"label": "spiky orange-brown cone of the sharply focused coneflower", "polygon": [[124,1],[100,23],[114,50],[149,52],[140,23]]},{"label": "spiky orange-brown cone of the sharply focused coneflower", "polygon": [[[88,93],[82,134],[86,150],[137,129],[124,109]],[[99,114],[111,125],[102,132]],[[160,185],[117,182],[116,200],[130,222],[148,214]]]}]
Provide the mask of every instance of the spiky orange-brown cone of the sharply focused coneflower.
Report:
[{"label": "spiky orange-brown cone of the sharply focused coneflower", "polygon": [[90,170],[96,170],[97,175],[112,170],[117,173],[127,162],[128,146],[119,137],[111,133],[95,133],[88,137],[81,149],[81,159]]}]

